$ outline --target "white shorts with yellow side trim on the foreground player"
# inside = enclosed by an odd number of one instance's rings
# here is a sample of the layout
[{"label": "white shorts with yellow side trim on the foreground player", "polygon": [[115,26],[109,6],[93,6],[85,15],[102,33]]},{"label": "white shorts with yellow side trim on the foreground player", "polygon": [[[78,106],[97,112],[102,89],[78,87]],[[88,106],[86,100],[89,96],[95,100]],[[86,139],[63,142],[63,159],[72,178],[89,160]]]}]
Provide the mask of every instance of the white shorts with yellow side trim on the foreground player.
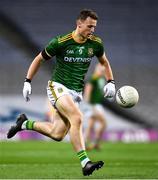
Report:
[{"label": "white shorts with yellow side trim on the foreground player", "polygon": [[57,100],[64,95],[70,95],[73,101],[77,104],[82,101],[82,92],[68,89],[63,84],[54,81],[48,81],[47,95],[49,101],[54,107]]}]

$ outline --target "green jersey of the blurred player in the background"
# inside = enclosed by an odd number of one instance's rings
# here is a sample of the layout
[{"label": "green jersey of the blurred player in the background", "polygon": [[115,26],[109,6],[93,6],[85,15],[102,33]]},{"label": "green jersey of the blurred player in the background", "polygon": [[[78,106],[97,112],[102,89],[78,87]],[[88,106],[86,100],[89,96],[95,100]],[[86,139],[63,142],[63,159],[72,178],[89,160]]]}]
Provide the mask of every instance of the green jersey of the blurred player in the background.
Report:
[{"label": "green jersey of the blurred player in the background", "polygon": [[100,104],[104,99],[103,88],[105,85],[105,78],[92,76],[89,83],[92,85],[92,92],[90,95],[91,104]]}]

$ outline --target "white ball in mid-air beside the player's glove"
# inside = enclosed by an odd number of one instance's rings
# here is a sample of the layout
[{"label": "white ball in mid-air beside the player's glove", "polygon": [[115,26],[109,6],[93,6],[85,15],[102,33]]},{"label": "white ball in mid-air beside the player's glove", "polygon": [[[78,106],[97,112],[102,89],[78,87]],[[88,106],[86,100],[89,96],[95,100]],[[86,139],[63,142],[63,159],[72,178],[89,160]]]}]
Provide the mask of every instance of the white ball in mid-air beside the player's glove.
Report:
[{"label": "white ball in mid-air beside the player's glove", "polygon": [[138,91],[132,86],[122,86],[116,92],[116,102],[124,108],[131,108],[138,103]]}]

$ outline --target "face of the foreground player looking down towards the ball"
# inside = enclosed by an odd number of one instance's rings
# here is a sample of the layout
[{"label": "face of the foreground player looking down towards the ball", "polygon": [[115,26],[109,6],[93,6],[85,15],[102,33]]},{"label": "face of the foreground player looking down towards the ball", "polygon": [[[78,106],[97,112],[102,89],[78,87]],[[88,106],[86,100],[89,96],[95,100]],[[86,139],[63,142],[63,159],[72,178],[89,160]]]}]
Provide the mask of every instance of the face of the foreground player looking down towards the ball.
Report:
[{"label": "face of the foreground player looking down towards the ball", "polygon": [[82,35],[84,38],[88,38],[94,33],[96,25],[97,20],[90,17],[88,17],[85,21],[79,21],[78,28],[80,35]]}]

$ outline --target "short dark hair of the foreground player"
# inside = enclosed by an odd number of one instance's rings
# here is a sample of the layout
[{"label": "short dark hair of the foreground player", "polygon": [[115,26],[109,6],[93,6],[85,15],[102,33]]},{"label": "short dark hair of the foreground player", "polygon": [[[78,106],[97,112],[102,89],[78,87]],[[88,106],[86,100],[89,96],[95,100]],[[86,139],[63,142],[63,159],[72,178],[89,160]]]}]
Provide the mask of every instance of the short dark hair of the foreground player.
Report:
[{"label": "short dark hair of the foreground player", "polygon": [[98,20],[98,15],[91,9],[83,9],[77,17],[77,20],[86,20],[87,17],[91,17],[92,19]]}]

